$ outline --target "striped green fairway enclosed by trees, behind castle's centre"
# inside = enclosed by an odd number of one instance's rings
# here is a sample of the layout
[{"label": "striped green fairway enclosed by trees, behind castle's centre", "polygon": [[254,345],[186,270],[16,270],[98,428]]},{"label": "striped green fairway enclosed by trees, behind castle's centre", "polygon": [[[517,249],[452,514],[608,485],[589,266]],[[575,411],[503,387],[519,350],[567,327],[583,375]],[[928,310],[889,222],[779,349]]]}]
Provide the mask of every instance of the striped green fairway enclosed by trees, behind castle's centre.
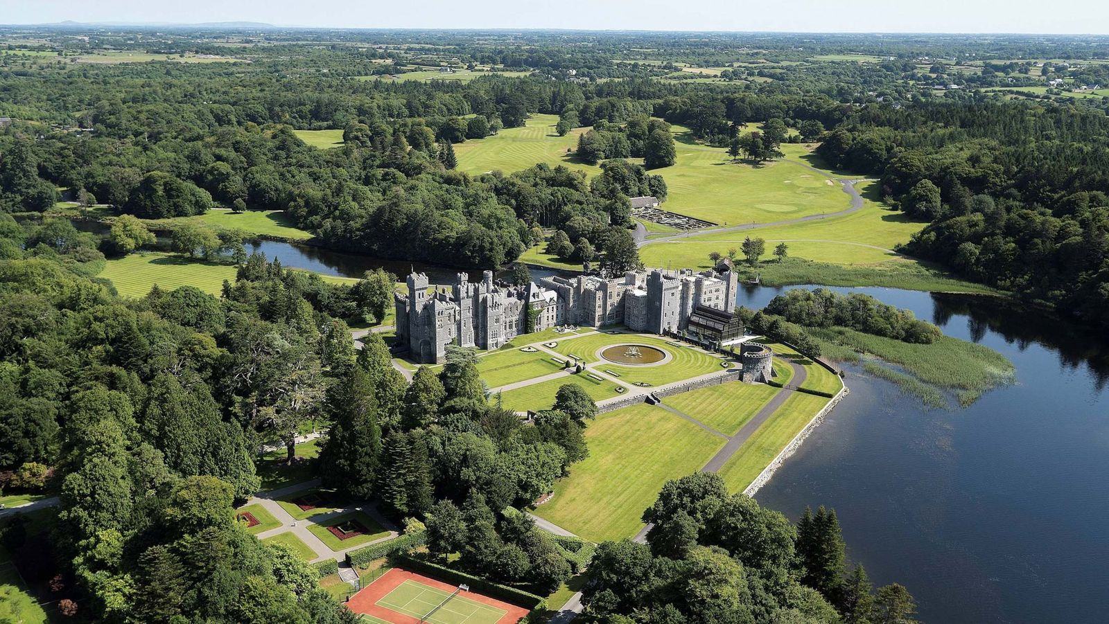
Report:
[{"label": "striped green fairway enclosed by trees, behind castle's centre", "polygon": [[578,136],[588,127],[571,130],[566,136],[554,132],[558,115],[535,114],[523,127],[506,127],[492,136],[455,144],[458,170],[478,175],[490,171],[512,173],[547,163],[567,165],[588,175],[600,173],[600,167],[577,161],[567,150],[578,147]]}]

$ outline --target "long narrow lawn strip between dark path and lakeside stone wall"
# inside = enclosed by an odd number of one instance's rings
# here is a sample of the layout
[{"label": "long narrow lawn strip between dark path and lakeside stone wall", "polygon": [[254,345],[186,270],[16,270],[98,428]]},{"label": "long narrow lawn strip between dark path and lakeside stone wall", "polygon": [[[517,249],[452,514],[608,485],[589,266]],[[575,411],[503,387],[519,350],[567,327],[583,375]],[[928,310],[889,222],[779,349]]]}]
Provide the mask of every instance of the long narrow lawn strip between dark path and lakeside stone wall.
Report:
[{"label": "long narrow lawn strip between dark path and lakeside stone wall", "polygon": [[721,469],[728,488],[742,492],[831,399],[794,392]]}]

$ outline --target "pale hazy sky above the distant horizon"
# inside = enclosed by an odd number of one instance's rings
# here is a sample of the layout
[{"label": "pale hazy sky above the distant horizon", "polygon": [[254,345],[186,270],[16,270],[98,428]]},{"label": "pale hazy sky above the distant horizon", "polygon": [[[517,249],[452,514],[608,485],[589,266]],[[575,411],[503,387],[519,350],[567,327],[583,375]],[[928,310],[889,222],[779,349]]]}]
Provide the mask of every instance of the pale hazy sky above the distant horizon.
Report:
[{"label": "pale hazy sky above the distant horizon", "polygon": [[0,23],[1109,34],[1106,0],[0,0]]}]

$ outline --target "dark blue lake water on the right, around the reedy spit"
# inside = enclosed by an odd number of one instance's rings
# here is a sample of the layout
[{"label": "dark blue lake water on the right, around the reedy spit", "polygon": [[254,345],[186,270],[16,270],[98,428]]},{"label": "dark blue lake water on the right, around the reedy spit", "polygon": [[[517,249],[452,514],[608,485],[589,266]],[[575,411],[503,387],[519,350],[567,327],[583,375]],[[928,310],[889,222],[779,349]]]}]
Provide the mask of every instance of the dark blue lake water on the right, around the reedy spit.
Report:
[{"label": "dark blue lake water on the right, around the reedy spit", "polygon": [[[796,520],[836,509],[848,556],[898,582],[925,622],[1105,622],[1109,348],[996,299],[862,291],[986,345],[1017,382],[929,410],[848,366],[851,393],[755,498]],[[780,288],[749,288],[762,307]]]}]

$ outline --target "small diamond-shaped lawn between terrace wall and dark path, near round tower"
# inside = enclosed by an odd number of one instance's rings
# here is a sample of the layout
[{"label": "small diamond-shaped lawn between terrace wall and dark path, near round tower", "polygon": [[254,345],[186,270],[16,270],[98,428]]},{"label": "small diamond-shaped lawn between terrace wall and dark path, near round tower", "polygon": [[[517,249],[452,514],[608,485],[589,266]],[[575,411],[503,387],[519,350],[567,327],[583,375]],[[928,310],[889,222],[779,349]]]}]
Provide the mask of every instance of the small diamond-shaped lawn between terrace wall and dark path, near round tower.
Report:
[{"label": "small diamond-shaped lawn between terrace wall and dark path, near round tower", "polygon": [[721,433],[734,436],[755,412],[781,391],[764,383],[730,381],[667,397],[663,402]]}]

